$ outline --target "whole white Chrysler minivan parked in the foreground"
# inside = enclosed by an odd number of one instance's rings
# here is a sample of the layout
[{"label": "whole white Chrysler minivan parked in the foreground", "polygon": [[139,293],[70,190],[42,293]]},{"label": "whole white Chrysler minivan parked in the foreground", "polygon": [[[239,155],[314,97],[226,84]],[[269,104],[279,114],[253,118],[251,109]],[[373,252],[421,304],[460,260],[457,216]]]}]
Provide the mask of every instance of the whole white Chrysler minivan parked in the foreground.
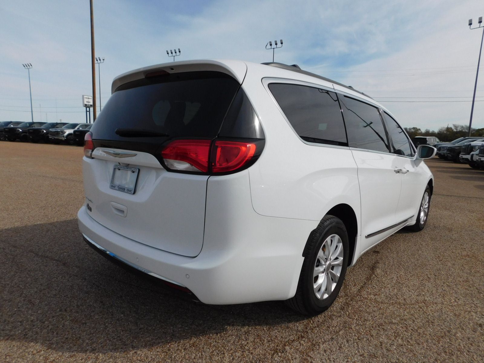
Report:
[{"label": "whole white Chrysler minivan parked in the foreground", "polygon": [[347,268],[427,222],[434,181],[392,114],[297,65],[182,61],[114,79],[86,134],[84,240],[208,304],[318,314]]}]

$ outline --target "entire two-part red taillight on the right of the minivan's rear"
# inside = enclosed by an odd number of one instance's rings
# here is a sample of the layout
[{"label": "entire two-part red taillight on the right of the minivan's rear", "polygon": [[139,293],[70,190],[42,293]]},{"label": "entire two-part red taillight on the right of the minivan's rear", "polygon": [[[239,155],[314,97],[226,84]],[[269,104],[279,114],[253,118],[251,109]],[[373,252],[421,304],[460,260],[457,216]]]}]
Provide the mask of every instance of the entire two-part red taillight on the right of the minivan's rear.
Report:
[{"label": "entire two-part red taillight on the right of the minivan's rear", "polygon": [[246,166],[255,153],[256,144],[250,142],[175,140],[165,146],[161,155],[171,170],[227,173]]}]

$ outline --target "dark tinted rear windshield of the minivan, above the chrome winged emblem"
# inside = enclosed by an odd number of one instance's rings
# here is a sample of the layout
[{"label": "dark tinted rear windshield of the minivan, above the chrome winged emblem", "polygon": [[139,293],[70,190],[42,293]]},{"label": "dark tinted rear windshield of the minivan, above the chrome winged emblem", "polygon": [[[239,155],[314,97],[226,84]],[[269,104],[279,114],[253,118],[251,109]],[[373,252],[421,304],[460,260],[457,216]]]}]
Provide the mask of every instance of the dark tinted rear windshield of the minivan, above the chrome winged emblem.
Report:
[{"label": "dark tinted rear windshield of the minivan, above the chrome winged emblem", "polygon": [[145,78],[116,90],[94,122],[94,139],[151,142],[152,137],[122,137],[117,128],[135,128],[170,137],[213,137],[239,88],[220,72],[187,72]]}]

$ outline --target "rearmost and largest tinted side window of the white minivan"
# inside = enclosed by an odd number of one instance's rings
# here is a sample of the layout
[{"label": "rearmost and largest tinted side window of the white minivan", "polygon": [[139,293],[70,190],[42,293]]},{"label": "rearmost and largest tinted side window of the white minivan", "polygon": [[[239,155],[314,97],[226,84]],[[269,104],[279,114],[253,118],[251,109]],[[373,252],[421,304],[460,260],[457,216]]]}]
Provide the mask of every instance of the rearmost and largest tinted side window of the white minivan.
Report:
[{"label": "rearmost and largest tinted side window of the white minivan", "polygon": [[336,93],[283,83],[271,83],[269,89],[287,120],[303,140],[348,146]]}]

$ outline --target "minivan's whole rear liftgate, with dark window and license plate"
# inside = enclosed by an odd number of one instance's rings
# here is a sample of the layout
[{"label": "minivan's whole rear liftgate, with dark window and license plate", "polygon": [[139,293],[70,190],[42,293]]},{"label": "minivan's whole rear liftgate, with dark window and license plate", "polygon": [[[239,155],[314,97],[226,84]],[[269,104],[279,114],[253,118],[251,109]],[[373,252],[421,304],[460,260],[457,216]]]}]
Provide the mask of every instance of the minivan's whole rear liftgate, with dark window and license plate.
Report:
[{"label": "minivan's whole rear liftgate, with dark window and license plate", "polygon": [[137,242],[197,256],[209,176],[167,171],[161,149],[172,139],[214,138],[239,86],[214,71],[158,73],[119,86],[91,128],[93,158],[84,158],[91,217]]}]

